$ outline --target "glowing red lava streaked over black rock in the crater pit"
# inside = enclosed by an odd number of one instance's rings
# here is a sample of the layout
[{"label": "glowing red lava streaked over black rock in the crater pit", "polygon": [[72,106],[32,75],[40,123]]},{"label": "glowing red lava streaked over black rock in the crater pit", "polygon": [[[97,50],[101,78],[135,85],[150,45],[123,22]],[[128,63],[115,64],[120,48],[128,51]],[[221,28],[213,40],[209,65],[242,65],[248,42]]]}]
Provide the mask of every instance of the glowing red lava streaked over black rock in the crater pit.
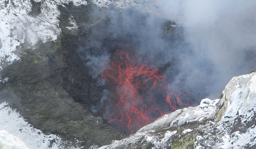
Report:
[{"label": "glowing red lava streaked over black rock in the crater pit", "polygon": [[165,75],[141,59],[131,60],[124,51],[114,53],[102,77],[113,93],[104,118],[124,132],[134,133],[166,113],[187,107],[180,96],[170,93]]}]

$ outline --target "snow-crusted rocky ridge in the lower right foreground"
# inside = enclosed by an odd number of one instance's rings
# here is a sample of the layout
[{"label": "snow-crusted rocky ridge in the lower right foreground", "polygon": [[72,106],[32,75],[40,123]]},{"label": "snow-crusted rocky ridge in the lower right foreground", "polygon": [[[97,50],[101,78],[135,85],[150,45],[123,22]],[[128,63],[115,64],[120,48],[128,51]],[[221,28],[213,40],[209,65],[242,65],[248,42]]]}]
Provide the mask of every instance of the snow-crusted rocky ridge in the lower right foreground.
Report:
[{"label": "snow-crusted rocky ridge in the lower right foreground", "polygon": [[256,147],[256,72],[233,77],[220,99],[166,114],[99,149]]}]

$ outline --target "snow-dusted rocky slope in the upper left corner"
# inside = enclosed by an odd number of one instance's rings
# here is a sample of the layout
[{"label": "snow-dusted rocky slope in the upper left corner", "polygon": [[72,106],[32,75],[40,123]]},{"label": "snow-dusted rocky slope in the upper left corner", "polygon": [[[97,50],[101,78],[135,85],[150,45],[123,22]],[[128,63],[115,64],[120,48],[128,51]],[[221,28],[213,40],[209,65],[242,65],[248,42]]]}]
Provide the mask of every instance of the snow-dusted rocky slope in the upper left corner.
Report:
[{"label": "snow-dusted rocky slope in the upper left corner", "polygon": [[[33,48],[38,41],[55,41],[61,32],[58,6],[73,2],[87,5],[85,0],[1,0],[0,1],[0,64],[12,63],[19,57],[14,52],[22,45]],[[70,16],[71,27],[76,23]]]}]

